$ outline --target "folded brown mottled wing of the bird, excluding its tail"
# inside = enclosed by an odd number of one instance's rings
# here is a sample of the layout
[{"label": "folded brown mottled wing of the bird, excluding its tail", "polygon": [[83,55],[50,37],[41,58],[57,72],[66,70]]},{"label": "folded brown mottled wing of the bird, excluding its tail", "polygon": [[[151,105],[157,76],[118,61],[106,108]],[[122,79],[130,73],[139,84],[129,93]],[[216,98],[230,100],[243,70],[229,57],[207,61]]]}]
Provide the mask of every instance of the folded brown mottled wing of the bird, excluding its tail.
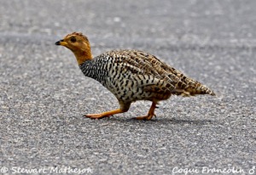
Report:
[{"label": "folded brown mottled wing of the bird, excluding its tail", "polygon": [[137,50],[123,50],[112,55],[117,67],[122,67],[123,74],[134,82],[139,82],[145,91],[155,93],[176,92],[178,78],[166,71],[154,55]]}]

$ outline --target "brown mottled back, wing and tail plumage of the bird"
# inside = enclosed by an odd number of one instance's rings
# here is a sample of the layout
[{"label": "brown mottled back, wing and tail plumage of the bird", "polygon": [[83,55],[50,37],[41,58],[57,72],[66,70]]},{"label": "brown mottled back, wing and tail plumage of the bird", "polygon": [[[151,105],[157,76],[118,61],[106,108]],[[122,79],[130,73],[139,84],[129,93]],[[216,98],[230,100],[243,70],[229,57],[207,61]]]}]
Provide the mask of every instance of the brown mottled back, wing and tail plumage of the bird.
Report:
[{"label": "brown mottled back, wing and tail plumage of the bird", "polygon": [[[157,59],[154,55],[137,50],[112,51],[119,55],[117,61],[122,61],[125,68],[135,75],[148,76],[154,82],[148,81],[145,90],[156,93],[173,93],[177,95],[190,96],[195,94],[214,93],[187,76],[181,71]],[[158,81],[155,81],[158,80]]]}]

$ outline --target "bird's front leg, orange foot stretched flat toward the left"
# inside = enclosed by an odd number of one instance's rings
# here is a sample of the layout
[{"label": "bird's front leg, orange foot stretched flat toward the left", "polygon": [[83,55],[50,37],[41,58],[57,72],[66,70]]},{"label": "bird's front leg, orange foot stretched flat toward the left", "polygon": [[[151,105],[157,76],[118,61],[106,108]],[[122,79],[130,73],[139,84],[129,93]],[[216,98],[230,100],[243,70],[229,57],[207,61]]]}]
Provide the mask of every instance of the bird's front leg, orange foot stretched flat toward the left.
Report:
[{"label": "bird's front leg, orange foot stretched flat toward the left", "polygon": [[113,116],[115,114],[124,113],[127,110],[129,110],[131,103],[124,103],[122,101],[119,101],[120,108],[118,110],[109,110],[107,112],[102,112],[100,114],[86,114],[85,117],[91,118],[91,119],[101,119],[108,116]]}]

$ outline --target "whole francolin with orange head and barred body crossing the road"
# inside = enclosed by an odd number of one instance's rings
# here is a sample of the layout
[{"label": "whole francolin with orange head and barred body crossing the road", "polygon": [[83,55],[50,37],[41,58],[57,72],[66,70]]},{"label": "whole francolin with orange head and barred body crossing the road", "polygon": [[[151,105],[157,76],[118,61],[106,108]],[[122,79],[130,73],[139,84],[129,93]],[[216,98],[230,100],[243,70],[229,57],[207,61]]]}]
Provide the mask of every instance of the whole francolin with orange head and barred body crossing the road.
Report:
[{"label": "whole francolin with orange head and barred body crossing the road", "polygon": [[155,116],[154,110],[158,107],[157,104],[172,95],[183,97],[198,94],[215,95],[201,82],[185,76],[181,71],[147,52],[117,49],[93,57],[89,39],[81,32],[67,34],[66,37],[55,42],[55,45],[70,49],[84,76],[100,82],[118,99],[119,109],[84,115],[91,119],[125,113],[130,109],[131,103],[146,100],[152,102],[148,114],[134,119],[148,121]]}]

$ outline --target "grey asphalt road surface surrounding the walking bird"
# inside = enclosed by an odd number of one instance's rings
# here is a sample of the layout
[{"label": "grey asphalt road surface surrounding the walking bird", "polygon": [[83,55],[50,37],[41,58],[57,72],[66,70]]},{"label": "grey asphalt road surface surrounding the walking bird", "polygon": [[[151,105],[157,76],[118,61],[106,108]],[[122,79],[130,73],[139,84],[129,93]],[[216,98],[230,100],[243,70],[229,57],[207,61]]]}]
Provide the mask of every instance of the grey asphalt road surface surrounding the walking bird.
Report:
[{"label": "grey asphalt road surface surrounding the walking bird", "polygon": [[[255,1],[0,1],[3,174],[256,174]],[[55,42],[81,31],[94,55],[136,48],[217,94],[119,107]],[[253,169],[254,167],[254,169]],[[29,172],[30,171],[30,172]],[[189,173],[186,173],[189,172]],[[226,173],[227,174],[227,173]]]}]

